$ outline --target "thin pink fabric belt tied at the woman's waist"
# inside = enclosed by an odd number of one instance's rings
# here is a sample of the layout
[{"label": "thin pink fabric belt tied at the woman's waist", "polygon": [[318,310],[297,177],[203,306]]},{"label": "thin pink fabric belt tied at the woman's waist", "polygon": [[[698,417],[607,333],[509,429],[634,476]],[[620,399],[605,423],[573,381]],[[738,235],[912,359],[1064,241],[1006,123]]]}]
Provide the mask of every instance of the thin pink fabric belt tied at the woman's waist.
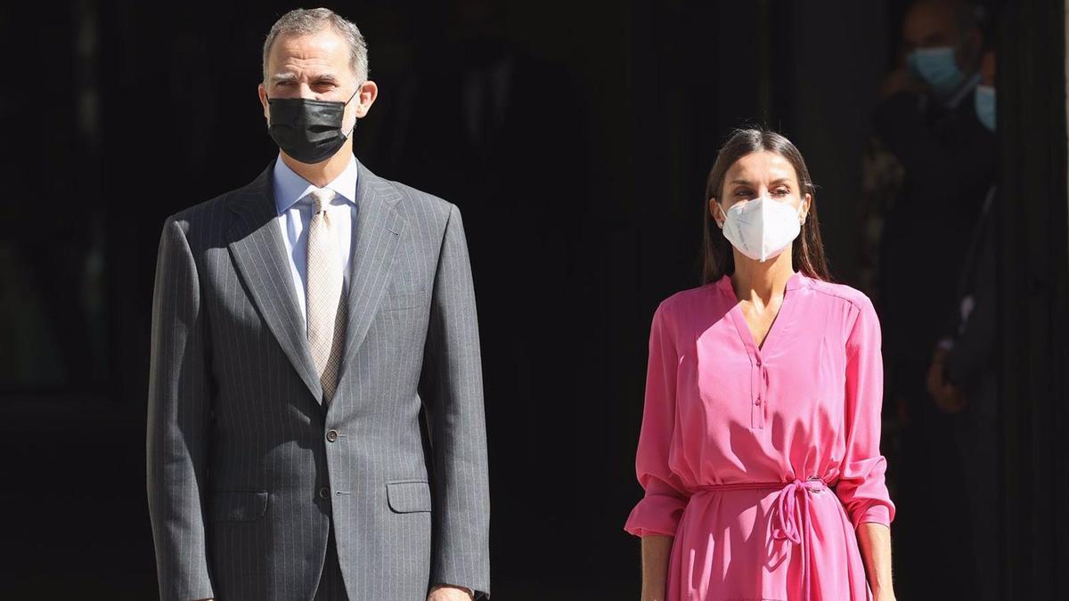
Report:
[{"label": "thin pink fabric belt tied at the woman's waist", "polygon": [[778,490],[776,497],[775,525],[772,537],[777,540],[789,540],[802,548],[802,590],[804,599],[811,599],[812,575],[810,570],[809,534],[812,531],[809,515],[809,494],[826,492],[827,483],[814,476],[808,480],[793,482],[735,482],[733,484],[709,484],[697,487],[695,492],[725,491],[773,491]]}]

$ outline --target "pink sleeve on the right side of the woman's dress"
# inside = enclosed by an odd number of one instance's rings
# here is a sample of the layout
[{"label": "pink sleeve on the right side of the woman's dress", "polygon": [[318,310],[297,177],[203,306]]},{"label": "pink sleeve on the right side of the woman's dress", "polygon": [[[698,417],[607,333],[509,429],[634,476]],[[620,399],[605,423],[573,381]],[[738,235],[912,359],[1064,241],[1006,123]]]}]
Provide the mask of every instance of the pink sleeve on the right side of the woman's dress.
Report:
[{"label": "pink sleeve on the right side of the woman's dress", "polygon": [[846,454],[835,493],[856,528],[865,522],[890,525],[895,505],[890,502],[880,453],[883,405],[883,356],[880,320],[865,298],[847,339]]}]

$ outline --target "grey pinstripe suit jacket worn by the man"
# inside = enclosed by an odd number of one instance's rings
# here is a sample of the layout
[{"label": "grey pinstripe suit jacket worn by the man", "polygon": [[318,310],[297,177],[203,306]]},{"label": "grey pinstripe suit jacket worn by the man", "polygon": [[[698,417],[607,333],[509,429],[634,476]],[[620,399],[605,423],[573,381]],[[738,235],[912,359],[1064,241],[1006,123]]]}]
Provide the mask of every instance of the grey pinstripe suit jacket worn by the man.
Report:
[{"label": "grey pinstripe suit jacket worn by the man", "polygon": [[164,226],[148,420],[162,599],[310,599],[331,519],[354,601],[422,600],[435,583],[489,594],[460,213],[359,167],[348,330],[325,405],[273,221],[272,169]]}]

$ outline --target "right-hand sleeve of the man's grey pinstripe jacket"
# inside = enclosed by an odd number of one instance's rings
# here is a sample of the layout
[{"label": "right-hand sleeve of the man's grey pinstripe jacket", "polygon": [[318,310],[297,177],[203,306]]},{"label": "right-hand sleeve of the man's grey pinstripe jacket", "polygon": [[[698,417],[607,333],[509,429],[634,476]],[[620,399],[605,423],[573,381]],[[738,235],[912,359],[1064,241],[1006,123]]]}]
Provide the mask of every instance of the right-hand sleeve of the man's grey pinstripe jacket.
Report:
[{"label": "right-hand sleeve of the man's grey pinstripe jacket", "polygon": [[431,583],[490,594],[490,487],[475,288],[450,205],[432,294],[420,390],[434,457]]}]

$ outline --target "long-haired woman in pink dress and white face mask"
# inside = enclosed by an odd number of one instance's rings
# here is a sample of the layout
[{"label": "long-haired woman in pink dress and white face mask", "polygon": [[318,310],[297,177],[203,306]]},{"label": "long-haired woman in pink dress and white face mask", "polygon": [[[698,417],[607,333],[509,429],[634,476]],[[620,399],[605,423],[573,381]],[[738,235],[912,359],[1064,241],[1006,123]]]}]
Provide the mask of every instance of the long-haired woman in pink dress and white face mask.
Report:
[{"label": "long-haired woman in pink dress and white face mask", "polygon": [[827,275],[797,149],[744,129],[709,175],[704,286],[653,315],[625,529],[642,601],[893,601],[880,322]]}]

